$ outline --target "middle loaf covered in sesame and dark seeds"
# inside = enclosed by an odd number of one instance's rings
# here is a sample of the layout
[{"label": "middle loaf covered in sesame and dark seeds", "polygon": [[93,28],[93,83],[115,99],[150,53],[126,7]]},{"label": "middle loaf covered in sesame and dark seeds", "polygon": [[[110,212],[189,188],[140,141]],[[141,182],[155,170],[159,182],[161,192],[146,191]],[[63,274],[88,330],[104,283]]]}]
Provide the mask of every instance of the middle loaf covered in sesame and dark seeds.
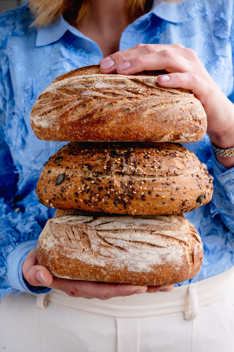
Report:
[{"label": "middle loaf covered in sesame and dark seeds", "polygon": [[212,176],[179,144],[71,142],[50,157],[36,191],[57,209],[176,214],[210,201]]}]

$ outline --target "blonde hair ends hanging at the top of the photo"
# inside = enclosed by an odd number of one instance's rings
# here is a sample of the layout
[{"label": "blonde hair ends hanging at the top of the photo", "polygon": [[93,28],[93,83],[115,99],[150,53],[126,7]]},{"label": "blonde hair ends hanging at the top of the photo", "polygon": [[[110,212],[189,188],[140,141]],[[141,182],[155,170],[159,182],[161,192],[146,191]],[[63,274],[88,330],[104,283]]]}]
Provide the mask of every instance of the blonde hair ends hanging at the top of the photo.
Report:
[{"label": "blonde hair ends hanging at the top of the photo", "polygon": [[[174,0],[163,0],[171,3]],[[79,23],[89,12],[89,0],[28,0],[30,9],[35,16],[33,25],[38,28],[56,22],[60,15],[71,24]],[[134,20],[141,10],[150,11],[153,0],[127,0],[126,10],[130,20]]]}]

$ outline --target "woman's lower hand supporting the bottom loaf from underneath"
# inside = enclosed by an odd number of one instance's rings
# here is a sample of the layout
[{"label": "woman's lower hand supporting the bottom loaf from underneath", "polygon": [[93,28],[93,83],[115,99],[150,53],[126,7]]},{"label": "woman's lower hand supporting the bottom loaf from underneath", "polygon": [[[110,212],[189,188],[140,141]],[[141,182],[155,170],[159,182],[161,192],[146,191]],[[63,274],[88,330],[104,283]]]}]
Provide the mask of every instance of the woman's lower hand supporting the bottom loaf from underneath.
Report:
[{"label": "woman's lower hand supporting the bottom loaf from underneath", "polygon": [[171,291],[173,285],[139,286],[95,281],[69,280],[52,277],[49,270],[37,262],[37,249],[31,250],[25,259],[22,272],[24,279],[33,286],[55,288],[73,297],[108,300],[112,297],[129,296],[135,293]]}]

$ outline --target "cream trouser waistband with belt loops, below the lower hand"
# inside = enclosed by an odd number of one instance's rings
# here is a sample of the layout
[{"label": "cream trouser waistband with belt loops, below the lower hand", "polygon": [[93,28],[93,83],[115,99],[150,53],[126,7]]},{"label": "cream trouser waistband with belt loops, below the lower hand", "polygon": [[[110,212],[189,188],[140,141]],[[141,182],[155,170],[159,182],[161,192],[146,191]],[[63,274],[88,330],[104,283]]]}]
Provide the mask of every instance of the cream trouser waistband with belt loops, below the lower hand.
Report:
[{"label": "cream trouser waistband with belt loops, below the lower hand", "polygon": [[224,299],[233,285],[231,268],[212,278],[175,287],[171,292],[113,297],[106,301],[70,297],[62,291],[52,290],[37,297],[37,307],[46,308],[48,302],[53,302],[73,309],[115,317],[147,317],[184,312],[185,319],[194,319],[199,307]]}]

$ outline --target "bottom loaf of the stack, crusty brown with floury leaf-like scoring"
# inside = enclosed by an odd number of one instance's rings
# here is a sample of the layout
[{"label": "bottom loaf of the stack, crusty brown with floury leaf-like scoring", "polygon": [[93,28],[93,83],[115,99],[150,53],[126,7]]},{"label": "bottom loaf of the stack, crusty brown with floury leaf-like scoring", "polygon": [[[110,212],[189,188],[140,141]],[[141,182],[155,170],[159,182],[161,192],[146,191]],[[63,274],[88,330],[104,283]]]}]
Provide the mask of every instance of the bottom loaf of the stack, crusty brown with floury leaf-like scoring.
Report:
[{"label": "bottom loaf of the stack, crusty brown with floury leaf-like scoring", "polygon": [[203,247],[183,214],[72,215],[48,220],[37,256],[57,277],[167,285],[197,274]]}]

